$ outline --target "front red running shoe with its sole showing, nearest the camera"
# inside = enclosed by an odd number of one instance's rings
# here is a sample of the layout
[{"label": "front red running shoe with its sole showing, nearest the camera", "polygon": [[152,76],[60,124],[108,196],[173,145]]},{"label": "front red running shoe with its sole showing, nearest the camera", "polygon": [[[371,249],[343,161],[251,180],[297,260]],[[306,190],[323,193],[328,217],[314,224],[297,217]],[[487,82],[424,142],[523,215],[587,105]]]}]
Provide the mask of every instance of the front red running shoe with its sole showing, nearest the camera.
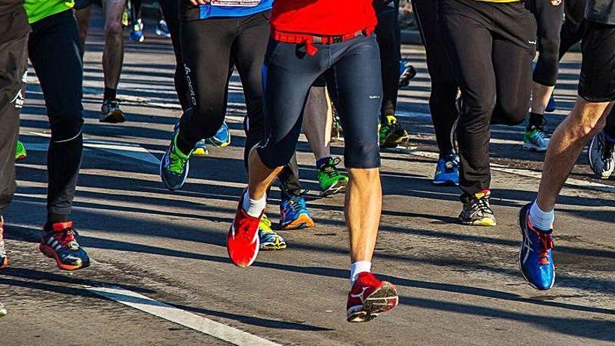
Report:
[{"label": "front red running shoe with its sole showing, nearest the camera", "polygon": [[372,273],[363,272],[348,294],[346,320],[368,322],[382,312],[393,310],[398,303],[399,296],[394,284],[379,281]]}]

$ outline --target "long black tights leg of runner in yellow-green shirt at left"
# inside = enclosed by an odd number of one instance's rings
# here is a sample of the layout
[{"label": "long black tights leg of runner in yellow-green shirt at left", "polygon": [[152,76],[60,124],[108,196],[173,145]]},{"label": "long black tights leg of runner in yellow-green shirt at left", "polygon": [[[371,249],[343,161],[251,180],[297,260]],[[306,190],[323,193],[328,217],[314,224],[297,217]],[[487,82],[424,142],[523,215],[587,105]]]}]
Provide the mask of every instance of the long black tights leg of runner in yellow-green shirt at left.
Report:
[{"label": "long black tights leg of runner in yellow-green shirt at left", "polygon": [[74,11],[66,10],[31,26],[28,52],[43,88],[51,127],[47,209],[50,217],[68,217],[83,144],[83,66],[77,21]]}]

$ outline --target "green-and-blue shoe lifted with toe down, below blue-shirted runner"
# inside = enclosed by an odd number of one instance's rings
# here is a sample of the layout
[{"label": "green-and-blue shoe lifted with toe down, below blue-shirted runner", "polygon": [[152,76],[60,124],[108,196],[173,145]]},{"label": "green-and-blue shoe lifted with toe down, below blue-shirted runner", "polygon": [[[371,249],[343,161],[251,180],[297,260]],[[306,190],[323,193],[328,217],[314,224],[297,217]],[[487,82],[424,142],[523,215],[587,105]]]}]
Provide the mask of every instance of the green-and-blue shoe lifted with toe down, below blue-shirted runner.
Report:
[{"label": "green-and-blue shoe lifted with toe down, below blue-shirted runner", "polygon": [[171,191],[180,189],[184,182],[186,182],[190,168],[189,159],[194,152],[194,149],[188,154],[181,152],[177,145],[179,134],[180,130],[175,130],[173,139],[171,139],[168,149],[160,160],[160,178]]}]

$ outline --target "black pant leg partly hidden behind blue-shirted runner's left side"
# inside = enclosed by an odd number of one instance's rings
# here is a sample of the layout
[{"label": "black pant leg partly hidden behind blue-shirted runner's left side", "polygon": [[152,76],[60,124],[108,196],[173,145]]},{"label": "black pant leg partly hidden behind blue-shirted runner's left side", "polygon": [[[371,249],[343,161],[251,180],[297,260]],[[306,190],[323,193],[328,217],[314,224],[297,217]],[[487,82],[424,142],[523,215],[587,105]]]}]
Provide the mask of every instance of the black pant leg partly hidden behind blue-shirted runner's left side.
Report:
[{"label": "black pant leg partly hidden behind blue-shirted runner's left side", "polygon": [[177,0],[159,0],[162,15],[166,21],[168,32],[171,34],[173,52],[175,53],[175,92],[178,93],[182,110],[190,106],[190,96],[184,81],[184,59],[182,57],[182,45],[180,40],[180,21]]}]

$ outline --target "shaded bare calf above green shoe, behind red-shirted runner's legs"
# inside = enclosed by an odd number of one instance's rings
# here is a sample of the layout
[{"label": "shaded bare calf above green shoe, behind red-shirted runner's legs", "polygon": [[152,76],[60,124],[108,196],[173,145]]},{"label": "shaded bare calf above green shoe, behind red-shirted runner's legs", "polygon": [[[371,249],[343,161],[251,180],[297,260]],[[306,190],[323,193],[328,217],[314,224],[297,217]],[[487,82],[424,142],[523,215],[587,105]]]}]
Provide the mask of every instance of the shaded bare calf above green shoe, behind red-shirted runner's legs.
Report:
[{"label": "shaded bare calf above green shoe, behind red-shirted runner's legs", "polygon": [[310,89],[303,113],[303,133],[310,143],[314,157],[317,160],[330,157],[333,110],[326,87]]}]

